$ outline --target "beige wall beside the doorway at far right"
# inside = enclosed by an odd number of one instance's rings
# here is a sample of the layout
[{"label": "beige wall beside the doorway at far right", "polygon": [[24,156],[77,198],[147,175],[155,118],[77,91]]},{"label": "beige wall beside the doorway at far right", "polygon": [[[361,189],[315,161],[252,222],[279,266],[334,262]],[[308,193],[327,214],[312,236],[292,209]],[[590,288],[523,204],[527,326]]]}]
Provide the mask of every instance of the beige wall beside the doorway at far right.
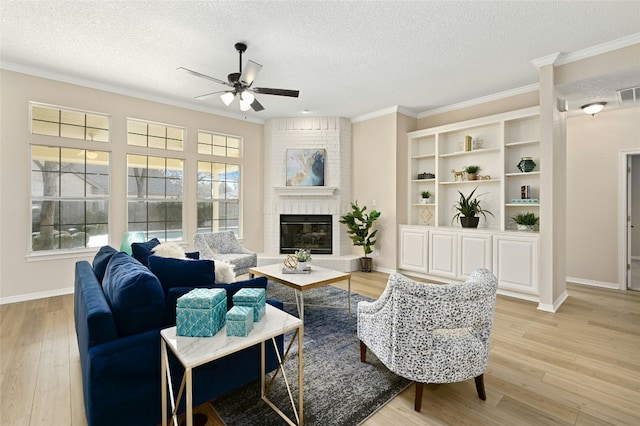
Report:
[{"label": "beige wall beside the doorway at far right", "polygon": [[621,150],[640,149],[640,107],[567,120],[567,277],[618,287]]}]

